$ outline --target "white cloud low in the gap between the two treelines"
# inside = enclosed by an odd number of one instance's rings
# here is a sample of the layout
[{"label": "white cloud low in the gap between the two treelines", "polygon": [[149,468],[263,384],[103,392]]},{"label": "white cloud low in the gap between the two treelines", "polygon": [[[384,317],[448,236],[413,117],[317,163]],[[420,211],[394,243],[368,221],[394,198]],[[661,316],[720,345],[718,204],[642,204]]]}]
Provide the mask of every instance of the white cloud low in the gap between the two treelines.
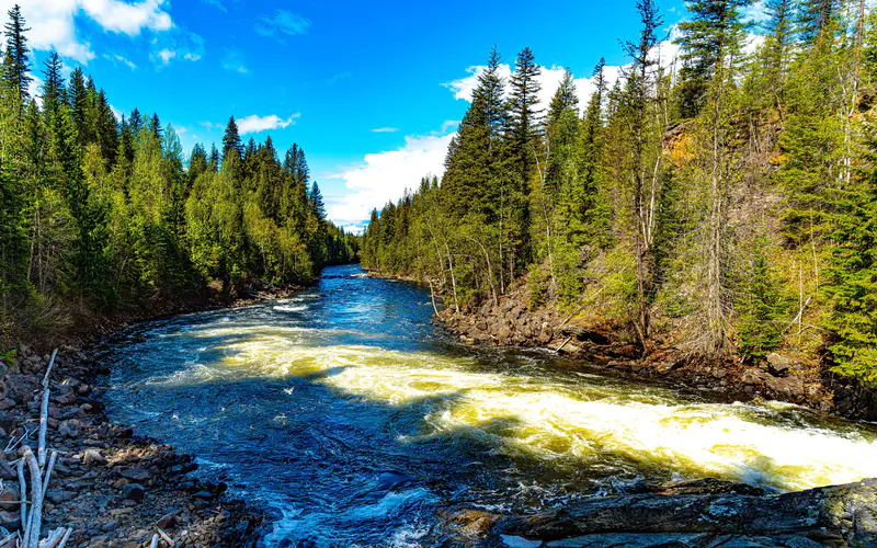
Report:
[{"label": "white cloud low in the gap between the two treelines", "polygon": [[329,218],[337,225],[361,224],[372,208],[398,199],[406,189],[415,189],[424,175],[441,176],[454,135],[408,136],[403,147],[366,155],[361,165],[331,175],[343,180],[348,192],[327,198]]}]

